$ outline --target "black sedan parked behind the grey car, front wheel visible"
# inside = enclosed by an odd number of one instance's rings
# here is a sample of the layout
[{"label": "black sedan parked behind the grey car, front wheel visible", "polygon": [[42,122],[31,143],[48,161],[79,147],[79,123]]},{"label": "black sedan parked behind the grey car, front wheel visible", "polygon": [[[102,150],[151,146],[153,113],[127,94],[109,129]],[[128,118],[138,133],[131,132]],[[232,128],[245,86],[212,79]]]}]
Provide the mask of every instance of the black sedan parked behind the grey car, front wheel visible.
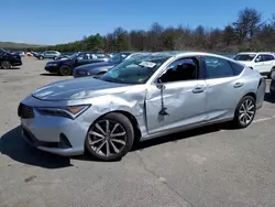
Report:
[{"label": "black sedan parked behind the grey car, front wheel visible", "polygon": [[68,76],[73,74],[77,66],[107,62],[108,59],[109,58],[102,53],[81,52],[73,54],[68,58],[46,63],[45,70],[48,73],[57,73],[62,76]]}]

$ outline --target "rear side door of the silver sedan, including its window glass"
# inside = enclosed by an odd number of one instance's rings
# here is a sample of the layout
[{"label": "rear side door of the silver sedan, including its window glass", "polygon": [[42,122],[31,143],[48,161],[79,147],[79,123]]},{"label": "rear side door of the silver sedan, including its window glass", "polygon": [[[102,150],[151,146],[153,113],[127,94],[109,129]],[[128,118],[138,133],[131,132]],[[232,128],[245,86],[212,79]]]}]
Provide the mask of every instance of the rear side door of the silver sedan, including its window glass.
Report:
[{"label": "rear side door of the silver sedan, including its window glass", "polygon": [[244,66],[209,55],[204,57],[204,67],[208,120],[223,120],[232,117],[243,96],[242,88],[245,81],[239,75]]}]

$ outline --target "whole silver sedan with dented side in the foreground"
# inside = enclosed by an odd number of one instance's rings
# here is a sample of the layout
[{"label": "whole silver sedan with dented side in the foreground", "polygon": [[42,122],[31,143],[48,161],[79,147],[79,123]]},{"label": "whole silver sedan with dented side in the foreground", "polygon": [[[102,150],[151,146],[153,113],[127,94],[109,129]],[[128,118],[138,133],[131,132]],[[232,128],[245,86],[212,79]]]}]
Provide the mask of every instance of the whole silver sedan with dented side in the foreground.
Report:
[{"label": "whole silver sedan with dented side in the foreground", "polygon": [[162,52],[99,78],[61,80],[20,102],[23,138],[59,155],[124,156],[134,140],[218,122],[246,128],[263,105],[265,79],[231,58]]}]

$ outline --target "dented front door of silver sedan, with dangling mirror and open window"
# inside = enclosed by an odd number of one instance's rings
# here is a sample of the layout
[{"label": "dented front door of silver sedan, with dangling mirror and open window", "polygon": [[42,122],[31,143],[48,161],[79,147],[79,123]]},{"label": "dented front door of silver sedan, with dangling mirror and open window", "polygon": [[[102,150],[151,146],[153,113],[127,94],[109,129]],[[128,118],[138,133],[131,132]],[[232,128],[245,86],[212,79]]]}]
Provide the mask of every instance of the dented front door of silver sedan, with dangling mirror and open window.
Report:
[{"label": "dented front door of silver sedan, with dangling mirror and open window", "polygon": [[177,130],[204,122],[206,116],[206,81],[199,79],[197,57],[177,59],[146,94],[148,134]]}]

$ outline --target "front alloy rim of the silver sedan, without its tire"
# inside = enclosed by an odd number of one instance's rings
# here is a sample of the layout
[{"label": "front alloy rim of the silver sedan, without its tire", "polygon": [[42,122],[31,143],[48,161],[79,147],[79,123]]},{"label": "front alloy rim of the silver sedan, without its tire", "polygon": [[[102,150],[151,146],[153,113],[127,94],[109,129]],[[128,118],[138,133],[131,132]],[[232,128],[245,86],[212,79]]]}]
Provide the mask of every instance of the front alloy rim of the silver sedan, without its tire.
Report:
[{"label": "front alloy rim of the silver sedan, without its tire", "polygon": [[100,156],[111,156],[123,151],[127,131],[113,120],[99,120],[88,132],[89,148]]}]

